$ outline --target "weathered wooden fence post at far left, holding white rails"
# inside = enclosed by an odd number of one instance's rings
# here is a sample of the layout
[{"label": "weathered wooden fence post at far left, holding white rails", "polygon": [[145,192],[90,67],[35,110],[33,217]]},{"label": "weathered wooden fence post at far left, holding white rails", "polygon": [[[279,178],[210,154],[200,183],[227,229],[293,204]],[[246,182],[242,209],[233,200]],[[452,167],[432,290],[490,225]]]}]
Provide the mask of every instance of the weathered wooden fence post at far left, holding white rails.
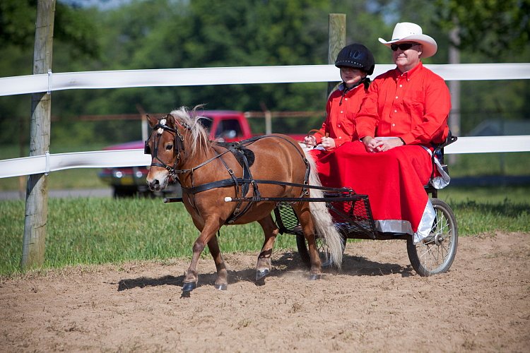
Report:
[{"label": "weathered wooden fence post at far left, holding white rails", "polygon": [[[37,1],[33,74],[52,69],[52,47],[55,0]],[[44,155],[49,150],[50,112],[49,92],[31,95],[30,156]],[[28,177],[25,198],[24,239],[21,267],[23,270],[44,263],[46,223],[48,218],[48,189],[46,174]]]}]

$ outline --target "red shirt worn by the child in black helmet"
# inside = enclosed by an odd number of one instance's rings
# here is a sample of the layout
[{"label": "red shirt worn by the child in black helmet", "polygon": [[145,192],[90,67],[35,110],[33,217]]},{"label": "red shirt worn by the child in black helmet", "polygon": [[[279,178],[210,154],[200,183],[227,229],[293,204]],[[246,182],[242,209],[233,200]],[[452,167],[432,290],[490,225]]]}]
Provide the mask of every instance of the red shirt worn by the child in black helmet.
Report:
[{"label": "red shirt worn by the child in black helmet", "polygon": [[[322,136],[329,133],[329,137],[335,140],[335,147],[352,140],[357,140],[355,133],[355,117],[357,116],[360,104],[366,97],[367,90],[361,83],[355,88],[348,90],[343,96],[343,84],[341,88],[335,90],[329,96],[326,104],[326,120],[322,128],[314,134],[317,143],[320,143]],[[342,102],[341,102],[342,101]]]}]

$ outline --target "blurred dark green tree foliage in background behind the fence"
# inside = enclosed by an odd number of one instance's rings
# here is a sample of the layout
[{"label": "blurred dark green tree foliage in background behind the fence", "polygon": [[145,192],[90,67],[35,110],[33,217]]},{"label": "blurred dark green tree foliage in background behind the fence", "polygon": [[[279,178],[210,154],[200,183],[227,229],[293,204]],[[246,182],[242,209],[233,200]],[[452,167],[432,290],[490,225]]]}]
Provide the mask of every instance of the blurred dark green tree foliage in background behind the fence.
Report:
[{"label": "blurred dark green tree foliage in background behind the fence", "polygon": [[[35,4],[0,2],[1,76],[32,72]],[[391,63],[389,49],[377,38],[388,39],[398,21],[419,23],[437,40],[439,52],[426,64],[446,64],[454,16],[463,36],[462,62],[530,60],[528,0],[132,0],[105,11],[79,7],[82,4],[56,4],[54,72],[326,64],[329,13],[346,13],[346,43],[367,45],[377,64]],[[495,52],[485,55],[478,47]],[[530,117],[529,85],[529,80],[462,82],[462,132],[489,117]],[[139,138],[136,122],[75,122],[84,114],[134,114],[139,107],[163,113],[196,104],[208,109],[322,112],[326,89],[326,83],[285,83],[59,91],[52,95],[51,144],[113,144]],[[27,144],[24,123],[29,115],[28,95],[0,97],[0,145],[14,138]],[[274,129],[305,132],[322,119],[281,119]]]}]

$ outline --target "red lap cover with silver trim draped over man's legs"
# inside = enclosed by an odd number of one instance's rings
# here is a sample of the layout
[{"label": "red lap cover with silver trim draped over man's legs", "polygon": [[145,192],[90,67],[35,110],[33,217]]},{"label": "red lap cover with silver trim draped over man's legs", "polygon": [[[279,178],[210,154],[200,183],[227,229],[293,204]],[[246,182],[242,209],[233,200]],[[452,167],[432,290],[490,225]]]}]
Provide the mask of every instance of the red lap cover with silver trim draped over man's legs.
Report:
[{"label": "red lap cover with silver trim draped over man's legs", "polygon": [[[326,161],[327,167],[321,166]],[[425,192],[432,172],[430,154],[420,145],[387,152],[367,152],[360,141],[345,143],[319,162],[319,172],[333,186],[350,187],[368,195],[380,232],[429,234],[434,209]],[[337,185],[338,183],[338,185]]]}]

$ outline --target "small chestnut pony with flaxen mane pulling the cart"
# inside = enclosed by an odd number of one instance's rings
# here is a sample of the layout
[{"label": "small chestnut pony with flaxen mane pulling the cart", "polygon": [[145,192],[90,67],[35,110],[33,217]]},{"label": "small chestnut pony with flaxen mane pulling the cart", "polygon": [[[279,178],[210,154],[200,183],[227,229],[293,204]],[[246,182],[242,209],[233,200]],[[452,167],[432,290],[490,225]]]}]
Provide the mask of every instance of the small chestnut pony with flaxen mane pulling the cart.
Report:
[{"label": "small chestnut pony with flaxen mane pulling the cart", "polygon": [[[147,184],[152,191],[167,186],[170,178],[182,186],[182,202],[200,235],[193,244],[192,261],[184,276],[183,292],[198,282],[197,263],[205,246],[216,264],[216,289],[228,287],[228,271],[220,253],[218,233],[223,225],[257,221],[264,232],[256,265],[256,280],[264,281],[271,271],[271,255],[279,229],[271,211],[278,199],[291,198],[310,253],[310,280],[322,275],[315,237],[319,234],[329,248],[331,265],[340,268],[341,235],[322,198],[314,161],[292,138],[273,134],[240,143],[208,140],[200,119],[207,119],[186,107],[160,117],[147,116],[151,136],[145,152],[151,155]],[[320,189],[318,189],[320,187]],[[275,201],[266,201],[273,198]],[[233,201],[233,202],[230,202]]]}]

